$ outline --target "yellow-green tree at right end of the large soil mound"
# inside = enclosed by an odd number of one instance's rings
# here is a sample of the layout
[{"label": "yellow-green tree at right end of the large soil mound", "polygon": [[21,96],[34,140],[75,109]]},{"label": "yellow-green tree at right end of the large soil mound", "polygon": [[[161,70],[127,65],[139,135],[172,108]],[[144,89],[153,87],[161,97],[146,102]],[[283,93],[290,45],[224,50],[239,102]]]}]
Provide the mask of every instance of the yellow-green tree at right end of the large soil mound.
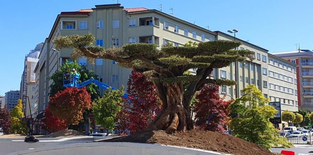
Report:
[{"label": "yellow-green tree at right end of the large soil mound", "polygon": [[[267,105],[269,99],[266,99],[254,85],[248,85],[243,92],[245,94],[232,103],[233,107],[237,107],[236,113],[239,113],[239,116],[233,118],[229,123],[233,134],[266,149],[279,145],[291,147],[292,143],[288,142],[286,138],[280,137],[278,130],[269,121],[278,112],[274,107]],[[235,105],[246,103],[251,104],[251,108]]]}]

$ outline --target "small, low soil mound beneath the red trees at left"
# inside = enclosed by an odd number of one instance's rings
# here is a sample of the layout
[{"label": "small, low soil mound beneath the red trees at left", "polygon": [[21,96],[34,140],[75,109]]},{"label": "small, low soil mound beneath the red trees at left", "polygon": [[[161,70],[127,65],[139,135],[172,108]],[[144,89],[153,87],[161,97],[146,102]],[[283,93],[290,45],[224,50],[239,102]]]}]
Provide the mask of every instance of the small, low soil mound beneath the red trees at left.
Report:
[{"label": "small, low soil mound beneath the red trees at left", "polygon": [[87,136],[84,133],[81,133],[79,131],[76,130],[60,130],[54,133],[51,133],[49,135],[45,135],[45,136],[38,136],[39,138],[68,138],[68,137],[77,137],[77,136]]}]

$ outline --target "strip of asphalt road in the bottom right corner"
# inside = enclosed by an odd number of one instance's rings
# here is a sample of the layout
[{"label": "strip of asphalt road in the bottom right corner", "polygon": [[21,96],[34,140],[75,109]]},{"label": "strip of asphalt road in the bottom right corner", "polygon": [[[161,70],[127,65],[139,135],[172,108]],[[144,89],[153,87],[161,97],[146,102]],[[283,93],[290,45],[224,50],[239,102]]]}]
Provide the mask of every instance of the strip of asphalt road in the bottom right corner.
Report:
[{"label": "strip of asphalt road in the bottom right corner", "polygon": [[295,155],[299,153],[313,155],[313,146],[306,144],[294,144],[295,147],[292,148],[272,148],[271,151],[275,153],[280,153],[281,150],[294,151]]}]

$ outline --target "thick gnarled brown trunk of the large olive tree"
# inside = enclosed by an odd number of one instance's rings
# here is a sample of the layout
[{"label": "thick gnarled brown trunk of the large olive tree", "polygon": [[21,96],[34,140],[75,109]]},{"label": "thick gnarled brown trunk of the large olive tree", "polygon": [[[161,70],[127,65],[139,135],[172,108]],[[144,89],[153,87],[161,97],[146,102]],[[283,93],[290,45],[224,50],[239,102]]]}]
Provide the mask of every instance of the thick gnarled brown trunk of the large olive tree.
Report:
[{"label": "thick gnarled brown trunk of the large olive tree", "polygon": [[167,86],[163,86],[160,83],[155,84],[162,109],[150,123],[149,129],[165,130],[166,133],[194,129],[193,122],[189,117],[189,110],[186,110],[183,104],[182,83],[174,83]]}]

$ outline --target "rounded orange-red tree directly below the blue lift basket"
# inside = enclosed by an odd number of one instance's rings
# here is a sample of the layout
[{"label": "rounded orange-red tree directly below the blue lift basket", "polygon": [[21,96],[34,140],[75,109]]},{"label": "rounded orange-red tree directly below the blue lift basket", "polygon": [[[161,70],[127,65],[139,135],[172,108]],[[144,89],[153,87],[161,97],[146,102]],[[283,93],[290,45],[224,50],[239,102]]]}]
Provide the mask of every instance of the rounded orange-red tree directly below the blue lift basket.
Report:
[{"label": "rounded orange-red tree directly below the blue lift basket", "polygon": [[50,97],[49,111],[65,120],[65,125],[77,125],[83,119],[83,112],[91,108],[90,94],[86,88],[66,88]]}]

